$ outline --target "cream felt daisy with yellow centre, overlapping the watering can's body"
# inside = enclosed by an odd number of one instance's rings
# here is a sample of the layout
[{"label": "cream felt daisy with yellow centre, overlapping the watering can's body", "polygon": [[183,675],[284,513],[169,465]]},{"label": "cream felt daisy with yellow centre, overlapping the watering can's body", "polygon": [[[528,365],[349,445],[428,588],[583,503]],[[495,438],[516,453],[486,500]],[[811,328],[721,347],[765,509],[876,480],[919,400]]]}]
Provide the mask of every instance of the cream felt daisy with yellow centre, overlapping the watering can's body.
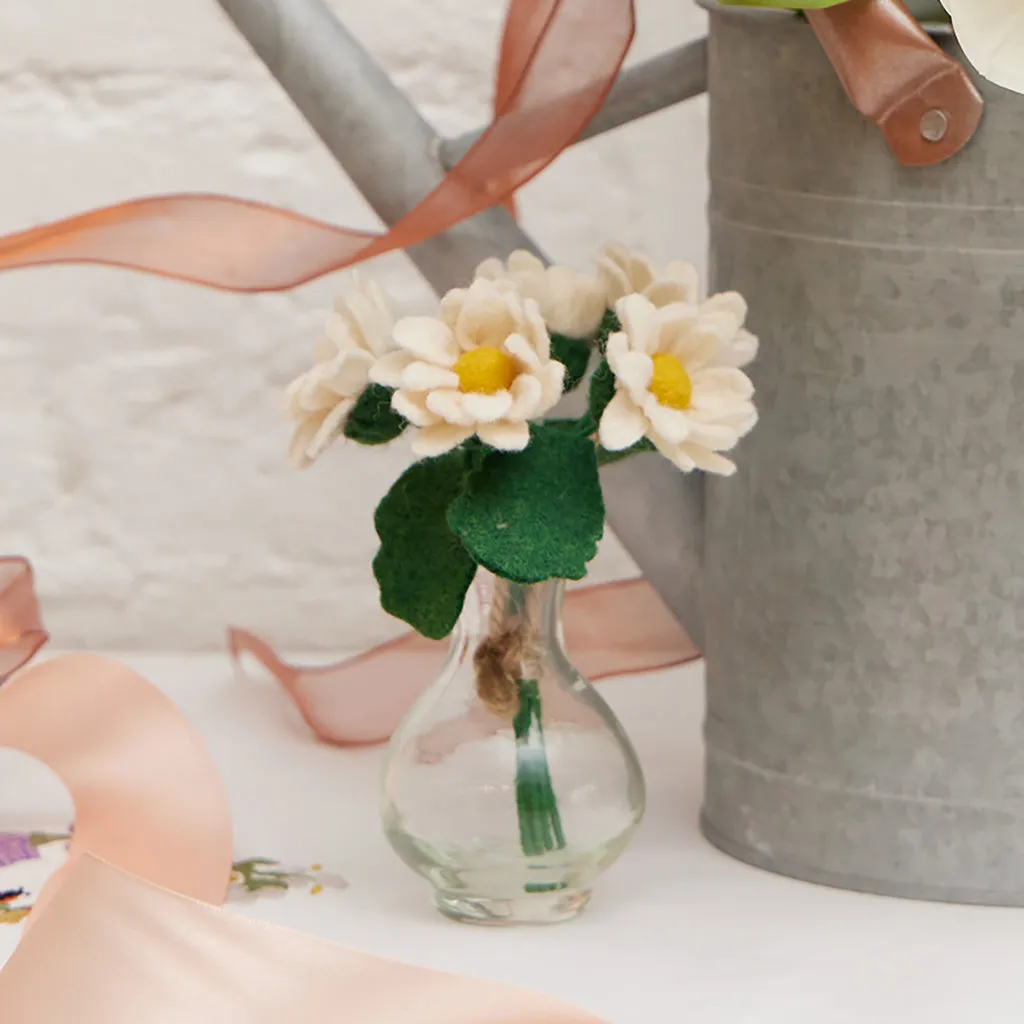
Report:
[{"label": "cream felt daisy with yellow centre, overlapping the watering can's body", "polygon": [[710,310],[682,302],[658,308],[634,294],[615,304],[623,330],[607,345],[615,394],[599,429],[608,451],[647,437],[680,469],[735,472],[719,453],[757,422],[754,386],[741,370],[719,362],[742,319],[726,315],[725,303],[710,302]]}]

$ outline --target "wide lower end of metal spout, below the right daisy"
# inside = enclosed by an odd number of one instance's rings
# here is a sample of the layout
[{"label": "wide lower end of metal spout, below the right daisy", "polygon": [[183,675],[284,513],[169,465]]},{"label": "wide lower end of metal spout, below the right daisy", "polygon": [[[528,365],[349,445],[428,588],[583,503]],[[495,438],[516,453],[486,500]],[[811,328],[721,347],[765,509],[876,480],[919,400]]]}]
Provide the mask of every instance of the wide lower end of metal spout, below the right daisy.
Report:
[{"label": "wide lower end of metal spout, below the right daisy", "polygon": [[601,479],[612,529],[702,649],[707,477],[651,453],[606,466]]}]

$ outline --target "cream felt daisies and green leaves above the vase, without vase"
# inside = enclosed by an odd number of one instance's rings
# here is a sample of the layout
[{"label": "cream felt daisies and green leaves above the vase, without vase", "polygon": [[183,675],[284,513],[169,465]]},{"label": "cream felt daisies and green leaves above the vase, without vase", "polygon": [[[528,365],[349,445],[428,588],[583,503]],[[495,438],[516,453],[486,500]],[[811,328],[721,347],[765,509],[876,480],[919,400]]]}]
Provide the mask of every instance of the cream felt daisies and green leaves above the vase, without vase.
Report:
[{"label": "cream felt daisies and green leaves above the vase, without vase", "polygon": [[[422,457],[380,503],[381,603],[424,636],[452,631],[477,567],[580,580],[604,529],[598,468],[657,451],[729,474],[755,424],[740,368],[757,352],[735,293],[700,301],[694,268],[608,246],[597,273],[525,252],[487,260],[432,316],[396,319],[362,284],[336,303],[315,365],[290,387],[291,457],[411,431]],[[592,357],[587,409],[555,410]]]}]

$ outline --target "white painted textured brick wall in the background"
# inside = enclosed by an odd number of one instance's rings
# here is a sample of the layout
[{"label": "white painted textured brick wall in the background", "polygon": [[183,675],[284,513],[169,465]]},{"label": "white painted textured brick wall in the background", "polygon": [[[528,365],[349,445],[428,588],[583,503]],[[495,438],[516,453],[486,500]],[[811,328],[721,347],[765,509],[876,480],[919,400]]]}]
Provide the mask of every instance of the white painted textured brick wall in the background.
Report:
[{"label": "white painted textured brick wall in the background", "polygon": [[[484,119],[502,0],[333,6],[443,133]],[[632,59],[703,31],[688,0],[639,6]],[[3,0],[0,41],[0,231],[179,189],[377,226],[213,0]],[[567,154],[523,194],[526,227],[562,261],[615,238],[702,263],[705,117],[692,102]],[[428,300],[403,256],[370,269]],[[61,646],[216,646],[227,622],[292,648],[395,632],[371,520],[404,449],[285,460],[279,394],[343,284],[0,275],[0,551],[35,560]],[[606,550],[598,574],[627,567]]]}]

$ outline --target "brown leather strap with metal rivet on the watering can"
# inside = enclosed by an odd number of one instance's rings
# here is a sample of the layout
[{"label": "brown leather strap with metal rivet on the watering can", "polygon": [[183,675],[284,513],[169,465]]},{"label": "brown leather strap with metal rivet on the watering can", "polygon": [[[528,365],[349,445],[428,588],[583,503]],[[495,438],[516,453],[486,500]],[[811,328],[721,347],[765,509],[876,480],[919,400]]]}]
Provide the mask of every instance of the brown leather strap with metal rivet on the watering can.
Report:
[{"label": "brown leather strap with metal rivet on the watering can", "polygon": [[901,164],[937,164],[971,140],[981,93],[900,0],[849,0],[806,13],[851,102]]}]

